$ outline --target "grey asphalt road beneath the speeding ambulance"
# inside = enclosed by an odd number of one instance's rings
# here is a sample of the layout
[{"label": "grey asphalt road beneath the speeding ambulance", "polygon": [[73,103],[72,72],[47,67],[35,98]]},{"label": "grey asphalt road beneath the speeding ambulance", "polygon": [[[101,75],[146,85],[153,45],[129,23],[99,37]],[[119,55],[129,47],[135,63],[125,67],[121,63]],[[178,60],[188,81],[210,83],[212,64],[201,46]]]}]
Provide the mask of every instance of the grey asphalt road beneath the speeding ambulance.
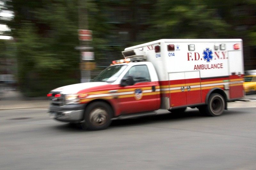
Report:
[{"label": "grey asphalt road beneath the speeding ambulance", "polygon": [[[218,117],[197,109],[114,121],[88,131],[46,109],[0,111],[0,169],[256,169],[256,102],[232,103]],[[254,104],[255,103],[255,104]],[[239,107],[237,107],[237,106]]]}]

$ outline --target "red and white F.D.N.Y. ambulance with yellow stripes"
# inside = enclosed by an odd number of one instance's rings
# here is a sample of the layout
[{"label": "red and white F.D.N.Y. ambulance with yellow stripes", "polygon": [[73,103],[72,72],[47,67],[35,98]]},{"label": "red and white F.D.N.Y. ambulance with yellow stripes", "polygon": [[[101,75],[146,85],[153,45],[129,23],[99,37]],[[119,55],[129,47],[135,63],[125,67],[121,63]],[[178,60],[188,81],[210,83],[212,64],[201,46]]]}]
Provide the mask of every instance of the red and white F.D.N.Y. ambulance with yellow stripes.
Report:
[{"label": "red and white F.D.N.Y. ambulance with yellow stripes", "polygon": [[162,39],[122,54],[92,82],[49,92],[50,116],[100,130],[158,109],[219,116],[227,102],[244,97],[241,39]]}]

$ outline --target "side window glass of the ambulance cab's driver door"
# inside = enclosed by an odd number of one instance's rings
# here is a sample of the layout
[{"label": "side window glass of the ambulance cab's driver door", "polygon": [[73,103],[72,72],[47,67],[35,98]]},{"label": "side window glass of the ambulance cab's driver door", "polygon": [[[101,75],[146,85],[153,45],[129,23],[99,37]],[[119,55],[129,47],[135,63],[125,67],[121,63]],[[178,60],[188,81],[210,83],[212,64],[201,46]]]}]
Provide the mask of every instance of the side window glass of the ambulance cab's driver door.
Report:
[{"label": "side window glass of the ambulance cab's driver door", "polygon": [[127,77],[129,75],[133,76],[135,83],[150,81],[148,67],[146,65],[133,66],[124,77]]}]

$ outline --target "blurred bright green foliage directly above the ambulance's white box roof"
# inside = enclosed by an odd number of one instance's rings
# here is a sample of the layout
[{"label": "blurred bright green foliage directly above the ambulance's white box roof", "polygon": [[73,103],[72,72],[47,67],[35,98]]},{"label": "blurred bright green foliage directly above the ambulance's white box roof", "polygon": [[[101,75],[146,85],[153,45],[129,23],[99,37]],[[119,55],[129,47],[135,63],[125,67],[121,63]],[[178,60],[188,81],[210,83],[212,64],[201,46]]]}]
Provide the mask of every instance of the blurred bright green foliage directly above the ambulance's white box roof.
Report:
[{"label": "blurred bright green foliage directly above the ambulance's white box roof", "polygon": [[149,21],[153,23],[149,29],[153,40],[228,37],[230,25],[218,17],[217,10],[210,8],[204,0],[159,0],[155,9]]}]

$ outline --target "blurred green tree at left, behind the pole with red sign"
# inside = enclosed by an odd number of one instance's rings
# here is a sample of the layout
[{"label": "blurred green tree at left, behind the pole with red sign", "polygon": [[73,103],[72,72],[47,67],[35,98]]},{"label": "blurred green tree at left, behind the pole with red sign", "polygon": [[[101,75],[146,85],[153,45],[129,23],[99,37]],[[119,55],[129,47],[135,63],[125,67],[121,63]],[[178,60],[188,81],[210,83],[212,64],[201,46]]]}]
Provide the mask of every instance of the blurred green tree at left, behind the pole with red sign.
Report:
[{"label": "blurred green tree at left, behind the pole with red sign", "polygon": [[[6,8],[14,12],[7,22],[17,46],[18,78],[20,89],[26,96],[43,96],[53,88],[79,83],[80,53],[78,4],[75,0],[5,0]],[[107,27],[100,14],[104,6],[87,0],[93,44],[98,48],[106,41],[101,38]],[[106,29],[107,30],[107,29]],[[99,50],[100,51],[100,50]]]}]

